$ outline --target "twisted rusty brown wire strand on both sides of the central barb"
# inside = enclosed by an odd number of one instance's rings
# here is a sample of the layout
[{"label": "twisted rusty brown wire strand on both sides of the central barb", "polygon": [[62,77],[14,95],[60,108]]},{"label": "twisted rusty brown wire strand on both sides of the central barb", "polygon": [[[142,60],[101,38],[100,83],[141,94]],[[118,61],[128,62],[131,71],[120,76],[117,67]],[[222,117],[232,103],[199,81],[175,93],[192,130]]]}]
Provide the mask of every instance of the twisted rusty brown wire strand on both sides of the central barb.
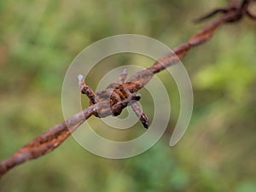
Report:
[{"label": "twisted rusty brown wire strand on both sides of the central barb", "polygon": [[[175,49],[173,49],[172,53],[167,53],[161,57],[153,64],[152,67],[144,69],[131,76],[131,78],[128,79],[123,86],[125,89],[129,90],[130,93],[137,92],[137,90],[140,90],[145,84],[148,83],[148,81],[153,77],[154,73],[159,73],[166,67],[172,66],[173,64],[177,63],[179,59],[183,59],[183,57],[188,53],[189,49],[207,42],[207,40],[212,37],[215,30],[221,24],[241,20],[244,15],[247,15],[249,18],[255,20],[256,16],[250,13],[248,10],[250,3],[253,2],[255,2],[255,0],[244,0],[241,3],[233,3],[233,1],[229,1],[230,5],[227,8],[215,9],[211,13],[202,16],[197,21],[205,20],[217,13],[222,13],[222,15],[220,15],[217,19],[212,20],[212,22],[210,22],[207,26],[203,27],[199,32],[196,32],[192,38],[189,38],[188,42],[177,46]],[[121,80],[122,77],[120,77],[119,81]],[[114,110],[121,111],[127,106],[127,103],[123,104],[119,101],[113,103]],[[96,115],[96,113],[101,113],[101,116],[111,115],[111,111],[109,110],[111,109],[109,109],[108,106],[106,107],[104,102],[91,103],[89,108],[84,109],[84,111],[80,113],[74,114],[72,117],[58,125],[53,126],[48,131],[45,131],[42,135],[34,138],[30,143],[27,143],[25,146],[20,148],[20,150],[11,155],[7,160],[0,162],[0,177],[2,177],[13,167],[18,166],[28,160],[37,159],[38,157],[41,157],[57,148],[67,139],[67,137],[71,135],[73,131],[79,127],[79,125],[84,123],[86,119],[90,118],[91,115]]]}]

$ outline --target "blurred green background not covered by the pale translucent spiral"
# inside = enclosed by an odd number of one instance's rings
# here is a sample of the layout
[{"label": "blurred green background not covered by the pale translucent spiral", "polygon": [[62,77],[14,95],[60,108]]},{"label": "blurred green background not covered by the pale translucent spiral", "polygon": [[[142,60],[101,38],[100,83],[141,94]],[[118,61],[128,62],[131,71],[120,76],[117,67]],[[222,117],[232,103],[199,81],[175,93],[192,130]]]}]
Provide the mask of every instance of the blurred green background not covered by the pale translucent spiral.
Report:
[{"label": "blurred green background not covered by the pale translucent spiral", "polygon": [[[220,0],[0,1],[0,160],[62,121],[62,81],[82,49],[123,33],[172,48],[203,26],[193,18],[223,5]],[[172,116],[165,136],[146,153],[108,160],[70,137],[53,153],[10,171],[0,180],[0,191],[256,191],[255,31],[256,23],[247,19],[222,26],[185,57],[195,105],[189,129],[175,147],[168,142],[179,113],[177,88],[161,73]],[[113,58],[114,65],[110,61],[87,79],[94,89],[102,74],[139,59],[123,55]],[[151,102],[143,98],[150,116]],[[142,130],[137,124],[129,134]]]}]

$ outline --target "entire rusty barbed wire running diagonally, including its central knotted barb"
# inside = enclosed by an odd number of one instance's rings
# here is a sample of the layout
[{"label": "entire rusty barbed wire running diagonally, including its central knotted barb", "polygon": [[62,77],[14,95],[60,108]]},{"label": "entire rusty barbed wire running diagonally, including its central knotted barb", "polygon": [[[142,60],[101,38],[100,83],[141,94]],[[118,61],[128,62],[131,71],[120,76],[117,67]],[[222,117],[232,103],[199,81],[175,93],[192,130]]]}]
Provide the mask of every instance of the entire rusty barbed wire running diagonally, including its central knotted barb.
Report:
[{"label": "entire rusty barbed wire running diagonally, including its central knotted barb", "polygon": [[[140,96],[138,94],[132,95],[132,93],[143,88],[155,73],[159,73],[166,69],[166,67],[170,67],[180,59],[183,59],[189,49],[207,42],[207,40],[212,37],[218,26],[227,22],[236,22],[241,20],[245,15],[256,20],[256,15],[253,15],[249,10],[249,6],[253,2],[256,2],[256,0],[243,0],[241,3],[229,1],[229,6],[227,8],[214,9],[209,14],[195,20],[206,20],[218,13],[222,14],[217,19],[212,20],[212,22],[207,26],[203,27],[199,32],[196,32],[192,38],[189,38],[188,42],[177,46],[171,53],[163,55],[160,60],[154,62],[152,67],[146,68],[132,75],[126,82],[125,74],[121,74],[117,83],[110,84],[106,90],[102,90],[102,93],[96,92],[96,96],[92,95],[93,91],[84,83],[83,78],[79,77],[81,92],[90,97],[90,107],[84,109],[82,112],[74,114],[72,117],[66,119],[60,124],[53,126],[42,135],[34,138],[30,143],[27,143],[25,146],[20,148],[7,160],[0,162],[0,177],[3,177],[6,172],[9,172],[10,169],[23,162],[37,159],[44,154],[53,151],[63,143],[67,137],[69,137],[71,133],[79,127],[79,125],[83,124],[86,119],[90,118],[91,115],[96,115],[100,118],[108,115],[118,115],[121,113],[123,108],[127,107],[127,105],[136,103],[136,101],[140,99]],[[99,96],[101,97],[104,91],[104,94],[106,94],[108,89],[112,89],[112,92],[114,92],[116,96],[112,98],[107,94],[107,100],[100,99],[96,102],[96,99],[99,98]],[[111,99],[112,101],[110,101]],[[111,106],[109,105],[109,102],[113,102],[111,103]],[[139,110],[136,104],[134,108],[137,116],[143,122],[143,125],[147,127],[148,122],[146,122],[147,118],[143,116],[145,115],[143,111]]]}]

